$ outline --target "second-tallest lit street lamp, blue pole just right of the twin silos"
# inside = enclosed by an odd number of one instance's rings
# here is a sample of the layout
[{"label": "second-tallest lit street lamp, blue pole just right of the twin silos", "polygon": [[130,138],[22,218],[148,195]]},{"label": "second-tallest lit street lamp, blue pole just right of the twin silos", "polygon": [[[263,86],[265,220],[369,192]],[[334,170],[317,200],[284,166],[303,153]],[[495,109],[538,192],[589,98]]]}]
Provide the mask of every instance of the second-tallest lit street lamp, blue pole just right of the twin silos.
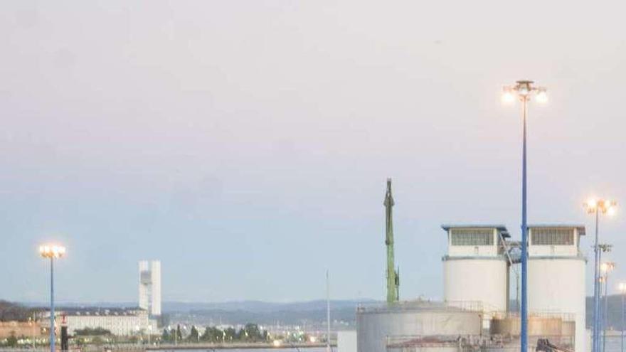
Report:
[{"label": "second-tallest lit street lamp, blue pole just right of the twin silos", "polygon": [[595,262],[593,268],[593,345],[592,352],[600,352],[600,245],[598,245],[598,223],[600,213],[612,215],[615,213],[617,203],[615,201],[605,201],[604,199],[591,198],[584,204],[587,213],[595,214]]}]

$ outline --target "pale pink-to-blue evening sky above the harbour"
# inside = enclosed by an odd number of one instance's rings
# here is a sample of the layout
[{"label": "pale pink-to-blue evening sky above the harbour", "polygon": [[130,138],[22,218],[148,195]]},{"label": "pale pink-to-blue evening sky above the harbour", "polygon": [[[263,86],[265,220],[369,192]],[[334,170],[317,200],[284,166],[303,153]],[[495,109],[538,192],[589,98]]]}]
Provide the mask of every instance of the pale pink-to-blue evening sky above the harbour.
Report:
[{"label": "pale pink-to-blue evening sky above the harbour", "polygon": [[[622,1],[4,1],[0,299],[383,299],[393,178],[400,297],[442,297],[442,223],[519,239],[626,203]],[[626,211],[600,219],[626,280]],[[590,257],[591,258],[591,257]],[[588,263],[588,292],[591,292]],[[610,287],[610,292],[615,292]]]}]

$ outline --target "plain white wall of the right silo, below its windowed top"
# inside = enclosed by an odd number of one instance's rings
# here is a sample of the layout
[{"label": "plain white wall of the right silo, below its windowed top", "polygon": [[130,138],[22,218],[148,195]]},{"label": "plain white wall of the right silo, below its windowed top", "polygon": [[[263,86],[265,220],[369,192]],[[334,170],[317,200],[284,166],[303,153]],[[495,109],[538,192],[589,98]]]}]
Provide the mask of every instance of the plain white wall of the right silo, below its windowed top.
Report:
[{"label": "plain white wall of the right silo, below its windowed top", "polygon": [[529,257],[529,313],[575,314],[575,351],[585,352],[585,260]]}]

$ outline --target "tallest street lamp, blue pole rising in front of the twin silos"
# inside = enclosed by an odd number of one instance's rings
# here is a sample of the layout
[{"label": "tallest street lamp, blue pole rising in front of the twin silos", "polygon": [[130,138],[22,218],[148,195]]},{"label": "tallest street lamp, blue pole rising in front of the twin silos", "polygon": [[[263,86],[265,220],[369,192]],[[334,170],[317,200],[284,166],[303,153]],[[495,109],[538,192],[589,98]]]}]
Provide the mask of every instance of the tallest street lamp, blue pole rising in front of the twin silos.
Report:
[{"label": "tallest street lamp, blue pole rising in front of the twin silos", "polygon": [[544,87],[535,87],[531,80],[519,80],[515,85],[507,85],[502,89],[502,100],[514,102],[515,98],[521,102],[523,137],[521,149],[521,352],[528,352],[528,221],[526,219],[526,115],[528,102],[534,96],[537,102],[547,102],[548,93]]}]

